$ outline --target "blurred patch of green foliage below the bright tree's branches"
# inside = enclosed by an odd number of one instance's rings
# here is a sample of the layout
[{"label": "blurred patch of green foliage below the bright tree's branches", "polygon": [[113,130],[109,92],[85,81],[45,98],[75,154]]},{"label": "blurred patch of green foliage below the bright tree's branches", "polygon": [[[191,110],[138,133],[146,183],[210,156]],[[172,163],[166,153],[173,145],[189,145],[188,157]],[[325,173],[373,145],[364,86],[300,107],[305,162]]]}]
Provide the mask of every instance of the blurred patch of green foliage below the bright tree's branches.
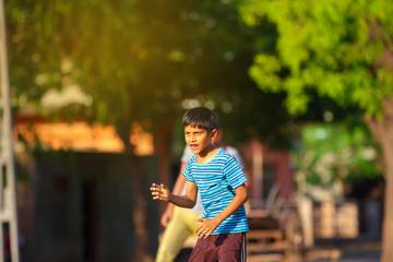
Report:
[{"label": "blurred patch of green foliage below the bright tree's branches", "polygon": [[366,127],[312,124],[294,152],[299,189],[315,200],[343,196],[343,184],[381,176],[380,150]]}]

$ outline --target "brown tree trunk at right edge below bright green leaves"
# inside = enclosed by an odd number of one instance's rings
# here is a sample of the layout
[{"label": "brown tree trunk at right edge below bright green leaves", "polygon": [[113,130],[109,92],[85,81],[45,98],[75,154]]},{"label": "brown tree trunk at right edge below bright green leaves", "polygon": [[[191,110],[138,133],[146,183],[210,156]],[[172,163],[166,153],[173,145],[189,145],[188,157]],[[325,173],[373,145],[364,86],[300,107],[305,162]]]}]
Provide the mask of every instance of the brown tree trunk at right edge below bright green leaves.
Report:
[{"label": "brown tree trunk at right edge below bright green leaves", "polygon": [[379,141],[385,165],[385,195],[382,229],[382,260],[393,261],[393,98],[383,102],[384,116],[382,121],[367,118],[366,121]]}]

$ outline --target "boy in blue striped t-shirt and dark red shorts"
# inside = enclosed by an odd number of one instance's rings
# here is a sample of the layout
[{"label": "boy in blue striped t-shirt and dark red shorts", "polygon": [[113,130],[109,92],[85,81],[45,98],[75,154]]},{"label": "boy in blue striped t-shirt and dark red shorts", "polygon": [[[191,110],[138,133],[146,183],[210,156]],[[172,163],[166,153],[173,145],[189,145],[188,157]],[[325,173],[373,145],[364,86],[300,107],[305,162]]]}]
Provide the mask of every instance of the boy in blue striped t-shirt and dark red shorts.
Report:
[{"label": "boy in blue striped t-shirt and dark red shorts", "polygon": [[213,144],[217,117],[207,108],[188,110],[182,119],[187,145],[195,154],[183,169],[184,195],[172,194],[165,184],[151,187],[154,200],[192,209],[200,191],[203,216],[195,234],[199,240],[191,262],[246,261],[246,231],[249,231],[243,203],[247,178],[234,156]]}]

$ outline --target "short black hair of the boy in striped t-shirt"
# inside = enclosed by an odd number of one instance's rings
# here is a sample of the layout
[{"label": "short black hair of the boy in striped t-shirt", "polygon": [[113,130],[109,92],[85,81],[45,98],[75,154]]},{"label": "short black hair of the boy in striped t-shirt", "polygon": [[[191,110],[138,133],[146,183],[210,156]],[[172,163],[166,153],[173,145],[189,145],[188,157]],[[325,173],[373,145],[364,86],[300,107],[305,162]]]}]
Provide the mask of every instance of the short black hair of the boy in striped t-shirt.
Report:
[{"label": "short black hair of the boy in striped t-shirt", "polygon": [[182,123],[183,127],[198,127],[210,133],[213,129],[218,129],[218,117],[206,107],[194,107],[186,111]]}]

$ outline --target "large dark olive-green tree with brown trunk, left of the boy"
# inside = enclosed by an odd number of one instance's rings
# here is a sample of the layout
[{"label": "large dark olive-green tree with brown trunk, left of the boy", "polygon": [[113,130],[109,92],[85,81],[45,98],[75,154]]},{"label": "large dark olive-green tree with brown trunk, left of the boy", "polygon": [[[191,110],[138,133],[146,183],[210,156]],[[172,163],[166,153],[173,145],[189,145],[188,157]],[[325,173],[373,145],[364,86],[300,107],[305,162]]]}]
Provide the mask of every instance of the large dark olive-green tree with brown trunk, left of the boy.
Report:
[{"label": "large dark olive-green tree with brown trunk, left of the boy", "polygon": [[[223,120],[230,114],[238,124],[257,123],[264,134],[271,132],[266,118],[258,122],[245,114],[270,105],[277,108],[270,127],[279,127],[279,119],[285,122],[282,96],[264,97],[247,74],[255,46],[261,50],[264,44],[250,40],[253,29],[238,23],[230,1],[15,0],[5,2],[5,14],[15,111],[33,104],[52,120],[82,116],[114,124],[123,140],[136,169],[135,261],[146,260],[152,250],[147,200],[141,198],[145,176],[129,141],[133,122],[162,142],[157,148],[164,171],[171,124],[186,102],[214,106]],[[51,110],[40,106],[48,90],[69,86],[81,88],[91,103]]]}]

